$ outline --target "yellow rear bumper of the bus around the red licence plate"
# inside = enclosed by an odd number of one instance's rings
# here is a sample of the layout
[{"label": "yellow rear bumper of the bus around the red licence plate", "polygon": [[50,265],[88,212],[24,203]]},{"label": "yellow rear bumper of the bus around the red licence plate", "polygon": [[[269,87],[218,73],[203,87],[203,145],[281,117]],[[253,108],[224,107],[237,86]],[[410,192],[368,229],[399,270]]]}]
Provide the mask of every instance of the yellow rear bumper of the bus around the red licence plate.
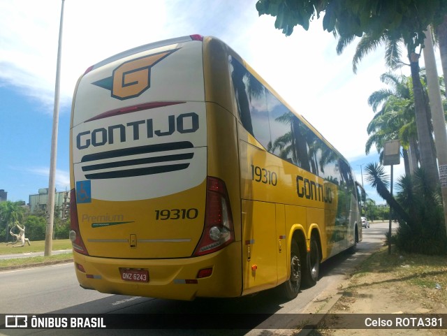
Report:
[{"label": "yellow rear bumper of the bus around the red licence plate", "polygon": [[[213,254],[179,259],[98,258],[73,252],[75,272],[82,288],[95,289],[101,293],[173,300],[240,296],[240,255],[240,242],[234,242]],[[123,280],[120,268],[147,270],[149,281]],[[210,268],[211,275],[198,278],[200,270]]]}]

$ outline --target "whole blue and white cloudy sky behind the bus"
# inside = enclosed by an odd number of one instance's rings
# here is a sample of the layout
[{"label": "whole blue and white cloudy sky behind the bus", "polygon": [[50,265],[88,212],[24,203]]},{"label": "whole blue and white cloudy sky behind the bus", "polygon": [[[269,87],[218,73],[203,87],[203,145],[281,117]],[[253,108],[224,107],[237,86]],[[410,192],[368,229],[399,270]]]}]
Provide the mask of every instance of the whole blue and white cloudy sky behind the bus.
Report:
[{"label": "whole blue and white cloudy sky behind the bus", "polygon": [[[60,0],[0,1],[0,189],[8,200],[28,203],[49,184],[60,13]],[[321,20],[286,37],[274,17],[258,16],[256,0],[66,0],[57,191],[70,189],[71,100],[80,75],[124,50],[190,34],[230,45],[348,159],[359,182],[363,173],[368,196],[384,203],[364,174],[367,163],[379,161],[374,147],[365,155],[365,143],[374,116],[367,98],[385,87],[383,49],[362,59],[354,74],[356,43],[337,55]],[[403,166],[395,166],[395,177]]]}]

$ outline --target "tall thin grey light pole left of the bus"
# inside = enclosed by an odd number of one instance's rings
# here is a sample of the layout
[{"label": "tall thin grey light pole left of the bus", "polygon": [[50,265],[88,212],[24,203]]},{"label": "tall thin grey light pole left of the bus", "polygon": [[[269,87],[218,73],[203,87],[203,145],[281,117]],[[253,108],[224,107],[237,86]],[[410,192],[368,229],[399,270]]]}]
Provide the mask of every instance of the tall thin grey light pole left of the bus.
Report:
[{"label": "tall thin grey light pole left of the bus", "polygon": [[45,230],[44,256],[51,256],[53,244],[54,222],[54,194],[56,193],[56,157],[57,157],[57,131],[59,129],[59,87],[61,78],[61,51],[62,51],[62,27],[64,23],[64,1],[61,6],[61,21],[59,24],[59,45],[57,47],[56,85],[54,88],[53,129],[51,137],[50,180],[48,181],[47,203],[47,228]]}]

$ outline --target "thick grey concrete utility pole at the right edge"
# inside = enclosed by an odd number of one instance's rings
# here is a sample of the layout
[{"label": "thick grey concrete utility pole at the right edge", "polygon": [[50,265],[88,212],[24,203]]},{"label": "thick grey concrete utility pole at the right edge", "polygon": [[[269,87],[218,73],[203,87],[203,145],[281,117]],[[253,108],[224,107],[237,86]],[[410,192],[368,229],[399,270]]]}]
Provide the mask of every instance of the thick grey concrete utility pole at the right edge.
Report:
[{"label": "thick grey concrete utility pole at the right edge", "polygon": [[[444,205],[444,219],[447,229],[447,133],[444,108],[442,107],[441,89],[439,77],[434,59],[432,29],[430,26],[425,31],[424,61],[427,73],[427,89],[430,98],[430,110],[432,112],[434,144],[436,146],[439,181],[441,182],[442,203]],[[446,230],[447,231],[447,230]]]}]

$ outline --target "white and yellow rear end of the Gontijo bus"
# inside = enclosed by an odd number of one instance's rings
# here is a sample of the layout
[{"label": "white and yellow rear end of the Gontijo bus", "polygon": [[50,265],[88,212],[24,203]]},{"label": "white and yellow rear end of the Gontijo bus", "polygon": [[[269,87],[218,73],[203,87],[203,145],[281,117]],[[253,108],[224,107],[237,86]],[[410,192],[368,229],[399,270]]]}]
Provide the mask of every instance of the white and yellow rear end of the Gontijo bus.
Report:
[{"label": "white and yellow rear end of the Gontijo bus", "polygon": [[84,288],[182,300],[241,295],[235,119],[205,99],[202,40],[135,48],[78,81],[70,238]]}]

